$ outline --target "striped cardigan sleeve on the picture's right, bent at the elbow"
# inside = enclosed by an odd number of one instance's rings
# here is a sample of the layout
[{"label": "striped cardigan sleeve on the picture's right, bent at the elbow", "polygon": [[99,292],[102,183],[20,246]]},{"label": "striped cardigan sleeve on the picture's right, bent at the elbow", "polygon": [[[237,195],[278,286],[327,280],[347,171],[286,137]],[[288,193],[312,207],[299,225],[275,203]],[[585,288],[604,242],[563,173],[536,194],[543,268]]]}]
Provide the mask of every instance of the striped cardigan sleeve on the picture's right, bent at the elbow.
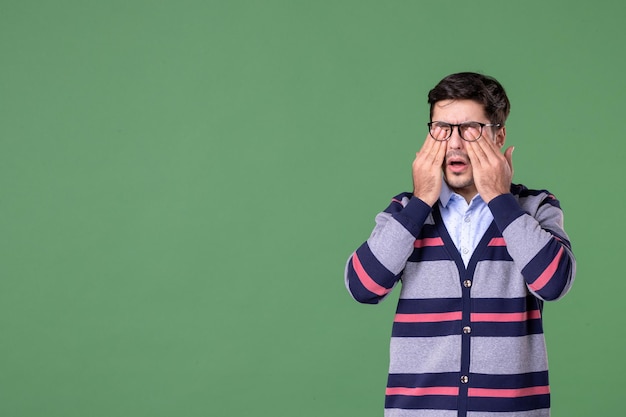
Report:
[{"label": "striped cardigan sleeve on the picture's right, bent at the elbow", "polygon": [[527,199],[524,207],[513,194],[489,202],[507,250],[530,292],[550,301],[563,297],[576,275],[576,260],[563,229],[559,201],[548,192]]}]

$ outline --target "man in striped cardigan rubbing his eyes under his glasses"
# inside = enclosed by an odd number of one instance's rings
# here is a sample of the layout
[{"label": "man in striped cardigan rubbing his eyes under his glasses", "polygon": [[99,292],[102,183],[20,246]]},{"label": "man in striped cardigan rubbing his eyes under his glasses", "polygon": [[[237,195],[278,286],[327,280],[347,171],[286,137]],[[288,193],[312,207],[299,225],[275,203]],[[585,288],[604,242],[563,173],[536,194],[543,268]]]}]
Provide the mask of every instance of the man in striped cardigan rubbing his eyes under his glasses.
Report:
[{"label": "man in striped cardigan rubbing his eyes under his glasses", "polygon": [[542,307],[575,275],[559,202],[511,184],[498,81],[453,74],[428,102],[413,192],[378,214],[346,267],[362,303],[402,281],[385,416],[549,416]]}]

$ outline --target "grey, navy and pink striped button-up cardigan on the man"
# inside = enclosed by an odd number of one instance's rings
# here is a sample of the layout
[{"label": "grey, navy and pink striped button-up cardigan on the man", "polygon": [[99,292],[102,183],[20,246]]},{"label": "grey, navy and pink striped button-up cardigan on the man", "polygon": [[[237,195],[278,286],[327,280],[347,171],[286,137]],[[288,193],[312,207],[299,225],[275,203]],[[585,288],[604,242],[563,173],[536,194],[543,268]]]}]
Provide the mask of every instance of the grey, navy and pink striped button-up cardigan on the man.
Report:
[{"label": "grey, navy and pink striped button-up cardigan on the man", "polygon": [[385,399],[387,417],[550,415],[543,302],[570,289],[575,260],[559,202],[512,185],[467,267],[441,220],[410,193],[376,217],[348,260],[346,286],[376,304],[402,289]]}]

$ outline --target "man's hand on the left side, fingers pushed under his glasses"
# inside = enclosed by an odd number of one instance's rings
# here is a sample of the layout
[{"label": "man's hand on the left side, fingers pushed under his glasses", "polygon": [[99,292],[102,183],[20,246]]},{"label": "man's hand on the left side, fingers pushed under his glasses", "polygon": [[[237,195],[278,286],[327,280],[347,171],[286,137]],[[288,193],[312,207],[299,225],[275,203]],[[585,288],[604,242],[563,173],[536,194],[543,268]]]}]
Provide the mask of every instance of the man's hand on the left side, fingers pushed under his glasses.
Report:
[{"label": "man's hand on the left side, fingers pushed under his glasses", "polygon": [[[436,136],[441,134],[441,129],[434,133]],[[429,134],[413,161],[413,195],[431,207],[441,193],[441,167],[446,157],[446,148],[446,141],[434,140]]]}]

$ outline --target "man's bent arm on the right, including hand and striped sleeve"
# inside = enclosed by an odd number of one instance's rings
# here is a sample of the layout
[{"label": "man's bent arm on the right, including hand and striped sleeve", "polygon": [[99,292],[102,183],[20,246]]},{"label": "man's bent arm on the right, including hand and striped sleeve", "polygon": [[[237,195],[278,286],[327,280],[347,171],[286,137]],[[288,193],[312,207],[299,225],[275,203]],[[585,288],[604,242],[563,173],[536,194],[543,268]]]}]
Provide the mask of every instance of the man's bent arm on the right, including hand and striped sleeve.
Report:
[{"label": "man's bent arm on the right, including hand and striped sleeve", "polygon": [[513,148],[501,154],[497,144],[480,138],[469,142],[467,150],[478,193],[489,205],[529,290],[543,300],[563,297],[574,281],[576,260],[558,200],[548,192],[538,193],[536,198],[543,199],[532,215],[527,213],[509,192]]}]

